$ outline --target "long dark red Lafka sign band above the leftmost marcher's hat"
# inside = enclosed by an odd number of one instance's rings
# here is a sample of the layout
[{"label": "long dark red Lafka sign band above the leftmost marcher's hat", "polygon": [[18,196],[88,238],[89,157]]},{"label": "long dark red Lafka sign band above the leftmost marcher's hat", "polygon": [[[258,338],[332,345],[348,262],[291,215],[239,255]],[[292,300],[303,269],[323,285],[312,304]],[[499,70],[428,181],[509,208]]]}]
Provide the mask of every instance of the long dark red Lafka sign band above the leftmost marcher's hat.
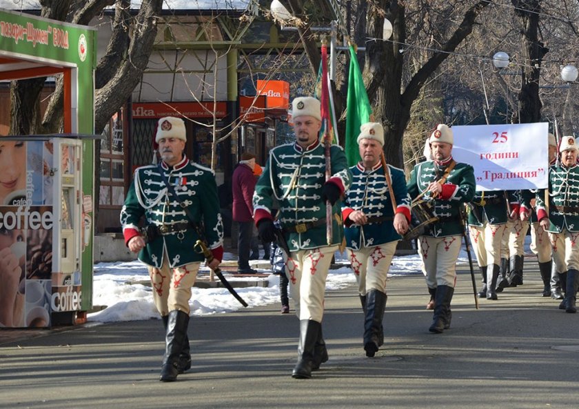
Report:
[{"label": "long dark red Lafka sign band above the leftmost marcher's hat", "polygon": [[227,115],[227,103],[213,102],[136,102],[132,104],[133,119],[163,117],[213,118]]}]

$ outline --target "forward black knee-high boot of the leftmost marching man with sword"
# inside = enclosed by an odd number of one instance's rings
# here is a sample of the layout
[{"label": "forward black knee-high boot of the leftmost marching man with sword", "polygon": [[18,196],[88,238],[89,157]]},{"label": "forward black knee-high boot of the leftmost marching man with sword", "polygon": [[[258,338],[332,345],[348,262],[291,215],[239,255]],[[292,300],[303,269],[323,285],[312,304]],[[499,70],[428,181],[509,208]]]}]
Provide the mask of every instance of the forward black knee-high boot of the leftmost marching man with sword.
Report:
[{"label": "forward black knee-high boot of the leftmost marching man with sword", "polygon": [[172,382],[179,375],[179,357],[185,346],[189,315],[186,312],[173,310],[167,317],[167,335],[165,337],[165,355],[159,380]]}]

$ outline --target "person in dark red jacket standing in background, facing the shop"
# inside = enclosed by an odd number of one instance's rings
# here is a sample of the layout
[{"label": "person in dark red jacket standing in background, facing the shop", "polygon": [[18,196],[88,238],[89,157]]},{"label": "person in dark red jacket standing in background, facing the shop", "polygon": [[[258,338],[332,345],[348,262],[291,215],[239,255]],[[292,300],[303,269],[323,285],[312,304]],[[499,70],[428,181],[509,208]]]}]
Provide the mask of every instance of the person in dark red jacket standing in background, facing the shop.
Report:
[{"label": "person in dark red jacket standing in background, facing the shop", "polygon": [[250,152],[241,154],[241,161],[233,171],[233,220],[238,223],[239,234],[237,239],[237,272],[239,274],[253,274],[256,270],[250,268],[250,250],[253,235],[253,204],[252,197],[255,190],[256,177],[254,176],[255,155]]}]

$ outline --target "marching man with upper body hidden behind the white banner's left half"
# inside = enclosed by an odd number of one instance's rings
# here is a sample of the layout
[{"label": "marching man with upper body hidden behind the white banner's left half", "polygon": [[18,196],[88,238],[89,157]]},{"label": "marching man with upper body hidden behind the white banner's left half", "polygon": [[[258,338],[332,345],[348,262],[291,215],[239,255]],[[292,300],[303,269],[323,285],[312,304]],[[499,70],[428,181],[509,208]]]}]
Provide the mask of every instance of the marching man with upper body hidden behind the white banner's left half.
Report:
[{"label": "marching man with upper body hidden behind the white banner's left half", "polygon": [[[480,298],[498,299],[496,287],[500,272],[501,241],[507,220],[518,217],[518,209],[518,194],[514,190],[475,192],[468,223],[476,262],[482,272],[482,289],[478,292]],[[516,265],[512,266],[512,270],[522,271],[522,257],[515,260]],[[505,280],[505,286],[506,283]]]}]

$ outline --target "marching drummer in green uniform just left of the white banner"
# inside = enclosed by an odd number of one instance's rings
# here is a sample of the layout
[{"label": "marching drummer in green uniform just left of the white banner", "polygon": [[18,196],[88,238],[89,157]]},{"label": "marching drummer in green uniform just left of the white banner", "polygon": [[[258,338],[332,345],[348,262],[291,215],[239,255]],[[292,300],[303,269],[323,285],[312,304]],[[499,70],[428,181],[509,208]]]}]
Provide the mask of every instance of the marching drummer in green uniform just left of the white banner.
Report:
[{"label": "marching drummer in green uniform just left of the white banner", "polygon": [[452,130],[444,124],[436,126],[429,138],[434,160],[414,166],[407,185],[410,197],[415,200],[422,196],[438,217],[427,226],[424,235],[418,237],[426,284],[434,297],[434,317],[429,331],[436,333],[450,328],[456,259],[464,232],[460,210],[472,200],[476,186],[472,166],[452,159],[453,143]]}]

